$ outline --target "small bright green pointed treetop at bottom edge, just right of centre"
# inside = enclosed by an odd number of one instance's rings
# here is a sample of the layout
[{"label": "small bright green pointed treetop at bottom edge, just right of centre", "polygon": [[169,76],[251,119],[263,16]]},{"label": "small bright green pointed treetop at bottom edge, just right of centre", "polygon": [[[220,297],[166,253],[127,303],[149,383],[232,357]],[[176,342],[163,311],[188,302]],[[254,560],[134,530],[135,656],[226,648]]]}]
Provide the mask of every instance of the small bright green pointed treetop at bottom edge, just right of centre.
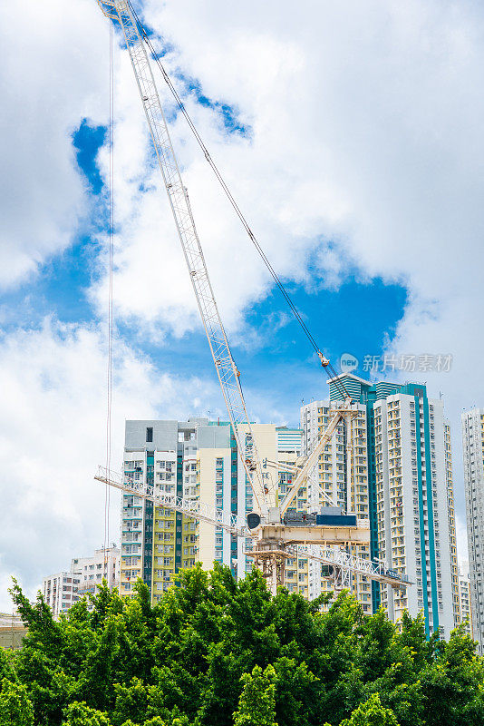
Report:
[{"label": "small bright green pointed treetop at bottom edge, just right of centre", "polygon": [[234,713],[234,726],[277,726],[276,672],[272,665],[263,671],[255,665],[251,673],[241,678],[244,688]]}]

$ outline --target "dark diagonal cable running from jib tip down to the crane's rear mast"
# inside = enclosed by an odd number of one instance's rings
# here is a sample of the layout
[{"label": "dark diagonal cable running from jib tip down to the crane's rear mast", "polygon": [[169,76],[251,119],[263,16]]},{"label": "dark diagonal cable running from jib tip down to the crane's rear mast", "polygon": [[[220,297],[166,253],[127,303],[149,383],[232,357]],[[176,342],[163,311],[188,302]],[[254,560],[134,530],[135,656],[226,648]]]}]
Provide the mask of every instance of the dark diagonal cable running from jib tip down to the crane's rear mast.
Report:
[{"label": "dark diagonal cable running from jib tip down to the crane's rear mast", "polygon": [[[283,295],[284,299],[286,299],[286,303],[287,303],[289,309],[291,310],[291,312],[293,313],[295,319],[297,320],[297,322],[301,326],[301,329],[305,333],[305,337],[309,340],[310,345],[315,350],[315,354],[318,356],[318,358],[320,358],[320,360],[323,363],[323,360],[326,361],[327,359],[324,358],[324,355],[323,355],[323,353],[321,351],[321,348],[318,346],[318,344],[317,344],[317,342],[316,342],[313,334],[311,333],[311,331],[308,329],[307,325],[305,324],[305,320],[303,319],[301,313],[295,307],[295,303],[293,302],[293,300],[289,296],[289,294],[288,294],[288,292],[287,292],[284,284],[282,283],[282,281],[280,280],[279,276],[277,275],[276,270],[274,270],[274,268],[273,268],[270,260],[268,260],[268,258],[266,256],[266,252],[260,246],[260,244],[259,244],[259,242],[258,242],[258,240],[256,238],[256,235],[251,230],[251,228],[250,228],[250,226],[249,226],[249,224],[247,222],[247,219],[244,216],[244,213],[241,211],[241,209],[238,206],[237,201],[235,200],[232,192],[228,188],[227,182],[223,178],[221,172],[218,170],[217,164],[214,162],[214,160],[212,159],[210,153],[208,152],[208,148],[205,145],[205,142],[201,138],[200,134],[198,133],[197,127],[193,123],[193,121],[192,121],[192,119],[191,119],[191,117],[189,115],[189,112],[187,111],[187,108],[186,108],[185,104],[181,100],[177,89],[175,88],[175,86],[171,82],[171,79],[169,78],[169,74],[167,73],[167,71],[165,70],[163,64],[161,63],[160,55],[157,53],[157,51],[153,47],[153,44],[150,41],[149,35],[147,34],[146,30],[144,29],[143,25],[141,24],[140,18],[137,15],[136,10],[134,9],[134,7],[131,4],[131,0],[128,0],[128,5],[130,7],[130,10],[131,10],[131,13],[133,15],[133,18],[134,18],[134,20],[136,22],[136,25],[138,26],[138,29],[140,31],[140,34],[141,34],[141,36],[142,36],[145,44],[150,49],[150,53],[151,53],[151,55],[152,55],[155,63],[158,65],[158,67],[160,69],[160,73],[162,74],[164,81],[167,83],[167,85],[169,87],[169,90],[170,90],[171,94],[173,95],[173,98],[175,99],[177,105],[179,106],[179,110],[181,111],[181,113],[183,113],[183,116],[185,117],[186,122],[189,124],[189,129],[193,133],[196,141],[198,142],[198,146],[200,147],[201,151],[203,152],[203,155],[205,156],[205,158],[206,158],[209,166],[211,167],[212,172],[214,172],[216,178],[218,179],[218,182],[219,182],[220,186],[222,187],[223,191],[225,192],[228,201],[230,202],[230,204],[232,205],[232,208],[236,212],[238,219],[242,222],[242,226],[247,231],[247,235],[248,235],[249,239],[252,241],[252,243],[254,244],[257,252],[259,253],[259,255],[262,258],[262,260],[264,261],[267,270],[269,270],[269,272],[270,272],[273,280],[276,282],[277,288],[280,290],[280,292]],[[351,398],[351,396],[349,395],[349,393],[346,390],[346,388],[344,388],[343,381],[338,380],[338,378],[337,378],[338,374],[335,371],[335,369],[334,369],[333,365],[331,364],[331,362],[327,361],[327,362],[323,363],[323,366],[324,366],[324,369],[325,369],[325,371],[326,371],[326,373],[328,375],[328,378],[336,378],[334,380],[334,384],[336,385],[336,388],[338,388],[338,392],[340,393],[340,395],[342,395],[344,398]]]}]

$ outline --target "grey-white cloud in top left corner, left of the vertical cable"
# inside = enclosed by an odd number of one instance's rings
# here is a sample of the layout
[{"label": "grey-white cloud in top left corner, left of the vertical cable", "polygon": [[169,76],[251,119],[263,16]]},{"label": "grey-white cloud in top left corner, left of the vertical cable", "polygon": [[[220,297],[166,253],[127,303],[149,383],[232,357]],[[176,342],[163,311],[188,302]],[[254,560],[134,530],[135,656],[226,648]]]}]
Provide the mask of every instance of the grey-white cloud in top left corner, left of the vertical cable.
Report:
[{"label": "grey-white cloud in top left corner, left of the vertical cable", "polygon": [[0,7],[0,287],[34,273],[78,231],[87,206],[72,134],[84,117],[106,122],[108,42],[91,0]]}]

